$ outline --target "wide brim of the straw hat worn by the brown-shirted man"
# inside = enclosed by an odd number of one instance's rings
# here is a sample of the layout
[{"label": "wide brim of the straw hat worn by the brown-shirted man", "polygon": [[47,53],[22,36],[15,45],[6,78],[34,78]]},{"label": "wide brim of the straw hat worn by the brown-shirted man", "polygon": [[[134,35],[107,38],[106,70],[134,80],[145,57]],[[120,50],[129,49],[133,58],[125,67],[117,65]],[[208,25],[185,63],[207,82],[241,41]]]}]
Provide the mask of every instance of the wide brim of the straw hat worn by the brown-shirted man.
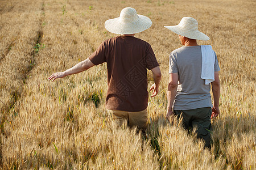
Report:
[{"label": "wide brim of the straw hat worn by the brown-shirted man", "polygon": [[138,15],[139,19],[133,23],[122,23],[118,18],[109,19],[105,22],[105,28],[115,34],[134,34],[151,27],[152,22],[147,16]]}]

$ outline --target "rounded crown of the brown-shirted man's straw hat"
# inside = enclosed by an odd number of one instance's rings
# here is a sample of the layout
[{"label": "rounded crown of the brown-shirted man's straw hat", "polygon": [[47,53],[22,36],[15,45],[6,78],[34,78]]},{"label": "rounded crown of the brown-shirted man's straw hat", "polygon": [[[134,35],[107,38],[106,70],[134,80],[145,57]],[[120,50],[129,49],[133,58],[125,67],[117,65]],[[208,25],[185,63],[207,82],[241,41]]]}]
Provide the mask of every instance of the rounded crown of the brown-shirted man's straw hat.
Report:
[{"label": "rounded crown of the brown-shirted man's straw hat", "polygon": [[126,7],[120,12],[119,21],[121,23],[133,23],[139,19],[137,11],[134,8]]}]

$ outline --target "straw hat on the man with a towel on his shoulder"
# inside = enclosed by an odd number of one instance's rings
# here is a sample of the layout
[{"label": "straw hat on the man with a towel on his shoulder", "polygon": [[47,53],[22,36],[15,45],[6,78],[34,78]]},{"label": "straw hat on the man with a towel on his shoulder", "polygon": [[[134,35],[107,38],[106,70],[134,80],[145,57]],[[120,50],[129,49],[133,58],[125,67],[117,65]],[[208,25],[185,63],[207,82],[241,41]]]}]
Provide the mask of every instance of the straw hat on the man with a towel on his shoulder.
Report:
[{"label": "straw hat on the man with a towel on his shoulder", "polygon": [[183,17],[178,25],[164,26],[178,35],[188,37],[189,39],[207,41],[210,38],[203,32],[198,31],[198,22],[192,17]]}]

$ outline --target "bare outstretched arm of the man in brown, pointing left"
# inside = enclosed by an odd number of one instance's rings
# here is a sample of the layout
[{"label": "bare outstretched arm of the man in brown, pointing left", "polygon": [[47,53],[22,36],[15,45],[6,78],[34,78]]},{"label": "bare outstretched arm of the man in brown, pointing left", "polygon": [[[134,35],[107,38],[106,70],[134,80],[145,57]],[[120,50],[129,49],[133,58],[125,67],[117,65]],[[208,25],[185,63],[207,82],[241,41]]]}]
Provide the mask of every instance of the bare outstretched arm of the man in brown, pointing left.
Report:
[{"label": "bare outstretched arm of the man in brown, pointing left", "polygon": [[88,70],[92,66],[94,66],[94,64],[92,63],[92,61],[90,61],[89,58],[87,58],[66,71],[53,73],[51,76],[48,77],[48,80],[52,80],[53,82],[55,79],[64,78],[67,75],[81,73],[82,71]]}]

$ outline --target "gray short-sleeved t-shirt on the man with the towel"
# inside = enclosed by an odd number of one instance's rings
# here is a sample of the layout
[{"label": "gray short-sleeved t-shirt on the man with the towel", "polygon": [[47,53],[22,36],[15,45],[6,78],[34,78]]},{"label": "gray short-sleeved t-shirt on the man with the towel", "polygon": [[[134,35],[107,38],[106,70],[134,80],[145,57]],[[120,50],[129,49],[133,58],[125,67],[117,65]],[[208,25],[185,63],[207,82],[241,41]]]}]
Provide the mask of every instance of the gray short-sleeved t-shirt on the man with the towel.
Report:
[{"label": "gray short-sleeved t-shirt on the man with the towel", "polygon": [[[214,71],[220,71],[215,54]],[[171,52],[169,73],[178,73],[179,85],[174,100],[174,110],[212,107],[210,84],[201,79],[201,46],[183,46]]]}]

